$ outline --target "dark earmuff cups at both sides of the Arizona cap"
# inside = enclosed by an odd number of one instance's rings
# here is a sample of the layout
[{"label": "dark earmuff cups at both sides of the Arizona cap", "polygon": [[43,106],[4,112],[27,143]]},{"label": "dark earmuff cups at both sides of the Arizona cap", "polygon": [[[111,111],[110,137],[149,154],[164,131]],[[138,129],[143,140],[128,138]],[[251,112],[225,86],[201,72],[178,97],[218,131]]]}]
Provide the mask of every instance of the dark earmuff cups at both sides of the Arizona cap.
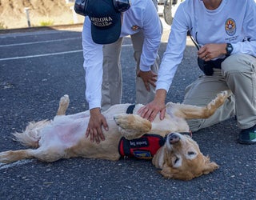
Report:
[{"label": "dark earmuff cups at both sides of the Arizona cap", "polygon": [[[75,0],[74,11],[77,14],[86,16],[86,4],[89,0]],[[118,12],[125,12],[130,8],[130,0],[112,0],[114,9]],[[100,5],[98,5],[100,6]]]}]

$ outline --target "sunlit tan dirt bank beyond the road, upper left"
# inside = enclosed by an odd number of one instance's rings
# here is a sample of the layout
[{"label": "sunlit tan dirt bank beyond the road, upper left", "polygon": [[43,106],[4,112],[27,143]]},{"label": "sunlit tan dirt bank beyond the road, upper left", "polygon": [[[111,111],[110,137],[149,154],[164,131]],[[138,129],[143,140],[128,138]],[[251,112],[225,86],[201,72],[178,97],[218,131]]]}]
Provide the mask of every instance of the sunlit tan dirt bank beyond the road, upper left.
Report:
[{"label": "sunlit tan dirt bank beyond the road, upper left", "polygon": [[[0,0],[0,29],[81,23],[68,0]],[[72,0],[70,0],[72,1]],[[29,18],[25,8],[28,8]],[[29,20],[28,20],[29,19]]]}]

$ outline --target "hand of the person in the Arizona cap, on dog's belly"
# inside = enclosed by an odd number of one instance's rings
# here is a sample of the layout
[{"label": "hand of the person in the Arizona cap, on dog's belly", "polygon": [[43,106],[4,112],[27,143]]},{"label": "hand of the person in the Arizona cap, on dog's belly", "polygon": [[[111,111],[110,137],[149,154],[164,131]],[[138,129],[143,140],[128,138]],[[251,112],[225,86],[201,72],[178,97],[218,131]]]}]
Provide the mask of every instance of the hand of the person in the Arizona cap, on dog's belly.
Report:
[{"label": "hand of the person in the Arizona cap, on dog's belly", "polygon": [[90,120],[86,129],[86,138],[90,135],[90,142],[99,143],[100,140],[104,141],[105,137],[102,133],[102,126],[105,130],[109,130],[106,118],[102,115],[99,108],[90,110]]}]

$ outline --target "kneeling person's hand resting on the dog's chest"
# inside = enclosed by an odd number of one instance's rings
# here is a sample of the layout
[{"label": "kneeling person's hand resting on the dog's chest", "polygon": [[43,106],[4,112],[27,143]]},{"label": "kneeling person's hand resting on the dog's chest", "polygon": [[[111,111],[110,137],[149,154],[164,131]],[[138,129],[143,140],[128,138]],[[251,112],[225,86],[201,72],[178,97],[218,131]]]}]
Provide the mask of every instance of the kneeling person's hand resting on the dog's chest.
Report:
[{"label": "kneeling person's hand resting on the dog's chest", "polygon": [[165,118],[166,90],[164,90],[164,89],[158,89],[154,96],[154,100],[138,110],[138,114],[140,114],[142,118],[146,118],[150,122],[153,122],[153,120],[157,116],[158,112],[160,112],[161,120],[163,118]]}]

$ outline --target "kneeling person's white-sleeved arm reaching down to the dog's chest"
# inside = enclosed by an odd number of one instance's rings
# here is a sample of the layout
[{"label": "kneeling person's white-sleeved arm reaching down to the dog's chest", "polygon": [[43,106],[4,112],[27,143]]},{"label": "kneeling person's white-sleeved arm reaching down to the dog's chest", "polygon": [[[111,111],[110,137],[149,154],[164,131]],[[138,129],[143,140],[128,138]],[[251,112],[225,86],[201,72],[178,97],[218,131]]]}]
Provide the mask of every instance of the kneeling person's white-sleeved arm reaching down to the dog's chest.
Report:
[{"label": "kneeling person's white-sleeved arm reaching down to the dog's chest", "polygon": [[[182,16],[182,14],[180,14]],[[143,106],[138,112],[142,118],[147,118],[151,122],[160,112],[160,119],[165,117],[166,113],[166,93],[170,88],[174,74],[182,61],[183,51],[186,47],[187,26],[174,22],[166,52],[163,55],[162,63],[158,71],[158,81],[154,100],[146,106]]]}]

